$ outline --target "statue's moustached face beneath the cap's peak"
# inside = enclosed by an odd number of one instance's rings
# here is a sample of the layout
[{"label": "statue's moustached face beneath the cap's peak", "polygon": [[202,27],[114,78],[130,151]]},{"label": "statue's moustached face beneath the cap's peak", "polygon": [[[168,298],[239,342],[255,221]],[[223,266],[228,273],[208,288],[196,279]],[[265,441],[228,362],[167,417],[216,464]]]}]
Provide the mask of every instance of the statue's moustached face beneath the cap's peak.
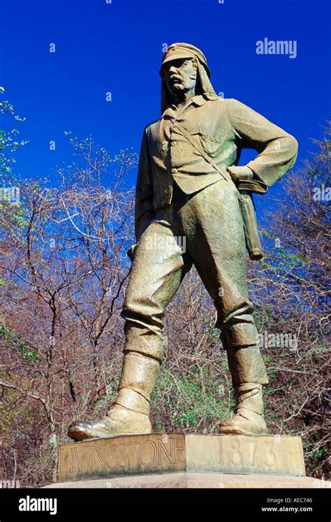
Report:
[{"label": "statue's moustached face beneath the cap's peak", "polygon": [[196,87],[196,61],[191,58],[178,58],[167,61],[163,66],[163,79],[171,94],[180,96]]}]

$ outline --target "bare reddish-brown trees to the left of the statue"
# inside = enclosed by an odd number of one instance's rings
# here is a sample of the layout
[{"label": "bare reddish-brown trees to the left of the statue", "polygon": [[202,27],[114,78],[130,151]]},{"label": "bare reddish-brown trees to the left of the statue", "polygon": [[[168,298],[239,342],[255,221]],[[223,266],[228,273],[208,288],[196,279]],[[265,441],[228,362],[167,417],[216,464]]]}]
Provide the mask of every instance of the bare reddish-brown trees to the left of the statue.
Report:
[{"label": "bare reddish-brown trees to the left of the statue", "polygon": [[[110,369],[121,358],[119,303],[133,243],[133,192],[124,182],[136,154],[111,158],[91,138],[70,139],[78,162],[59,170],[58,187],[24,180],[20,219],[11,205],[0,215],[2,241],[10,244],[0,256],[5,410],[16,403],[14,431],[31,435],[20,405],[34,403],[41,426],[32,438],[36,448],[37,440],[51,445],[50,465],[68,419],[88,414],[108,393]],[[4,433],[10,447],[12,426]]]}]

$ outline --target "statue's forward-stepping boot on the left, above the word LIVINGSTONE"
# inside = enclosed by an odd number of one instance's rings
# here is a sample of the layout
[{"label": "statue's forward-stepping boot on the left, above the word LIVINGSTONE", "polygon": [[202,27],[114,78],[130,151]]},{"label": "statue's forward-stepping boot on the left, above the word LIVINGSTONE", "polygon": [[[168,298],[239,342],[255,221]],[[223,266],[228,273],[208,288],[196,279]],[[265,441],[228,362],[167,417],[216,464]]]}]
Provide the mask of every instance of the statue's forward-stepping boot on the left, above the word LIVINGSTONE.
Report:
[{"label": "statue's forward-stepping boot on the left, above the word LIVINGSTONE", "polygon": [[160,361],[155,358],[136,351],[127,351],[115,405],[100,421],[73,422],[68,428],[68,437],[78,441],[152,433],[149,420],[150,399],[159,367]]}]

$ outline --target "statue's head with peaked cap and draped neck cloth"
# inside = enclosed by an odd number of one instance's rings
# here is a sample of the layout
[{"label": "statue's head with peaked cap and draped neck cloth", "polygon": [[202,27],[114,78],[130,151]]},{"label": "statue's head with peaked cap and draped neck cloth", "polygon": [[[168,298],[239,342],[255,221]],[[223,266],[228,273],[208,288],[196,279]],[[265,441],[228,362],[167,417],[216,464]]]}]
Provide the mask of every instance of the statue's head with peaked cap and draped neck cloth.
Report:
[{"label": "statue's head with peaked cap and draped neck cloth", "polygon": [[215,94],[209,81],[207,59],[200,49],[189,43],[172,43],[162,58],[162,112],[180,92],[192,90],[196,94]]}]

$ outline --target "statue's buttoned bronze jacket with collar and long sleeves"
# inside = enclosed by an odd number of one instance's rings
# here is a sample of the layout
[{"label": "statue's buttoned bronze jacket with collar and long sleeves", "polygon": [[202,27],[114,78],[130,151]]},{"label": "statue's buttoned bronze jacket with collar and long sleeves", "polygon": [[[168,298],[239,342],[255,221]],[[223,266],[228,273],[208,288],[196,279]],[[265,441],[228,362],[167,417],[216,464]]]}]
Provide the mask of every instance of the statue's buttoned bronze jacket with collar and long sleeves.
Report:
[{"label": "statue's buttoned bronze jacket with collar and long sleeves", "polygon": [[186,194],[193,194],[222,179],[180,127],[221,171],[237,164],[242,149],[256,150],[258,156],[247,166],[268,187],[295,164],[297,140],[240,101],[203,94],[194,96],[182,112],[172,105],[142,136],[135,195],[137,241],[155,210],[171,205],[174,180]]}]

